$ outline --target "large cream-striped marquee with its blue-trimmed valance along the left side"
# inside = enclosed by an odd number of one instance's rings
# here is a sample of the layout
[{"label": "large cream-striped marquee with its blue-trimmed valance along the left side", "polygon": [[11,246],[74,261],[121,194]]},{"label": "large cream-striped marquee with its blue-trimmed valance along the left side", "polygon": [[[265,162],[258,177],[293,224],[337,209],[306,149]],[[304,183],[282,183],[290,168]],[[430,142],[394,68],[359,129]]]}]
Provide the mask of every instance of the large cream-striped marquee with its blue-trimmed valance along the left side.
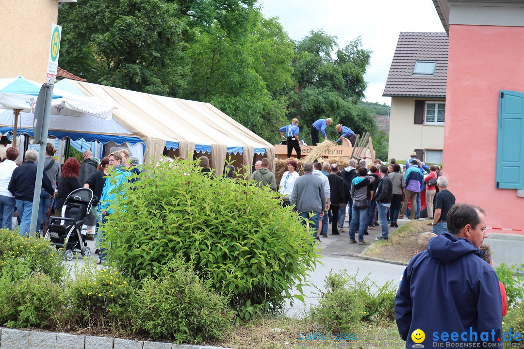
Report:
[{"label": "large cream-striped marquee with its blue-trimmed valance along the left side", "polygon": [[[49,136],[59,139],[113,141],[144,145],[144,159],[158,160],[165,148],[187,157],[193,152],[209,153],[211,166],[219,169],[233,156],[241,164],[252,165],[255,154],[265,155],[274,168],[274,145],[225,115],[209,103],[150,95],[121,88],[62,80],[57,89],[84,97],[95,97],[115,106],[113,118],[103,120],[51,114]],[[53,111],[52,111],[53,112]],[[18,133],[32,136],[31,113],[22,113]],[[13,131],[13,112],[0,113],[0,132]],[[229,154],[229,155],[228,155]]]}]

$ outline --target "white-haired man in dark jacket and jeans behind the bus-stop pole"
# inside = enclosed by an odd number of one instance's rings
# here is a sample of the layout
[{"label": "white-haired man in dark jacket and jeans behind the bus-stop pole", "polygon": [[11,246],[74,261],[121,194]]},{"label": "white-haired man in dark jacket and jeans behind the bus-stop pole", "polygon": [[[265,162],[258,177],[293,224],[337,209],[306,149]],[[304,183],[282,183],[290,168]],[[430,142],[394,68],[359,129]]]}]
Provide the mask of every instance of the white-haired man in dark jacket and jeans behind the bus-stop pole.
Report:
[{"label": "white-haired man in dark jacket and jeans behind the bus-stop pole", "polygon": [[[31,225],[32,200],[35,194],[35,181],[38,159],[38,153],[32,149],[26,151],[26,162],[15,168],[13,175],[7,189],[16,200],[16,208],[18,210],[18,217],[20,217],[20,235],[25,236],[29,233]],[[49,193],[54,194],[51,181],[43,172],[42,188]]]}]

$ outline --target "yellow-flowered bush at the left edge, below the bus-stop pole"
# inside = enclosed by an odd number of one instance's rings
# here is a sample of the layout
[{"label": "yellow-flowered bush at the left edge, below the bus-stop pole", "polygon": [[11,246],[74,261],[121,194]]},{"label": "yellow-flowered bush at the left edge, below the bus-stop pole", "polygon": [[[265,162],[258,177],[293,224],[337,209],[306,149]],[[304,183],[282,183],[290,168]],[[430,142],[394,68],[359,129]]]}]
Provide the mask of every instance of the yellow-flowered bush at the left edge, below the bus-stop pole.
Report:
[{"label": "yellow-flowered bush at the left edge, below the bus-stop pole", "polygon": [[31,271],[42,272],[58,283],[67,273],[63,256],[49,241],[40,238],[20,237],[16,232],[0,230],[0,269],[4,262],[24,258]]}]

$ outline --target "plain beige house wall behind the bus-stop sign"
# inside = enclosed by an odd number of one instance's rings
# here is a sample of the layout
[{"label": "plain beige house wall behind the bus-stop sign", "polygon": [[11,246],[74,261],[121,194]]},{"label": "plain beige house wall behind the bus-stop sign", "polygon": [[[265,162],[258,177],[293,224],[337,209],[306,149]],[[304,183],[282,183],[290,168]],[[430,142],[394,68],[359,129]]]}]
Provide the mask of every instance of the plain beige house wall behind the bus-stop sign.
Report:
[{"label": "plain beige house wall behind the bus-stop sign", "polygon": [[57,19],[57,0],[0,1],[0,77],[46,82],[51,25]]}]

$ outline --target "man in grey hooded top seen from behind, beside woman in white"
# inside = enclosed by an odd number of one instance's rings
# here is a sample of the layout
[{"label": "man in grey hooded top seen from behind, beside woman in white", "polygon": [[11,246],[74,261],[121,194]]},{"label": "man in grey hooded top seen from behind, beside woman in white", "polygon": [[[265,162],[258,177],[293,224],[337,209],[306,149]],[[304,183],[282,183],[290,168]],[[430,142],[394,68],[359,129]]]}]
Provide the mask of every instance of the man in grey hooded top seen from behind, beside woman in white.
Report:
[{"label": "man in grey hooded top seen from behind, beside woman in white", "polygon": [[[312,221],[310,224],[310,231],[313,238],[320,241],[316,236],[316,228],[319,226],[319,218],[324,217],[324,210],[326,204],[326,197],[324,192],[324,183],[322,180],[311,172],[313,165],[310,162],[302,166],[304,175],[297,178],[293,187],[293,193],[289,198],[291,205],[296,205],[300,217],[303,217],[305,222]],[[310,213],[312,214],[311,218]]]}]

